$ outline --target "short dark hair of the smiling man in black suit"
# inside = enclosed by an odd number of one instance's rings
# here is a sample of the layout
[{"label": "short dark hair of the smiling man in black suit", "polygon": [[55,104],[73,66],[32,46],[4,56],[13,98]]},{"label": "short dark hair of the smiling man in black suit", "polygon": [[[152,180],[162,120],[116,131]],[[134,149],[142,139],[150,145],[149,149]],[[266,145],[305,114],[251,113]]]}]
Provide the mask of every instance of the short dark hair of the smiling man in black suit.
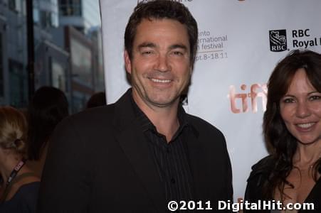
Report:
[{"label": "short dark hair of the smiling man in black suit", "polygon": [[190,62],[194,64],[196,50],[197,50],[197,23],[189,9],[177,1],[170,0],[154,0],[148,2],[140,2],[134,9],[130,20],[127,23],[125,29],[125,50],[128,55],[132,58],[132,45],[135,39],[137,26],[142,22],[143,19],[163,19],[169,18],[179,23],[184,24],[189,35],[190,45]]}]

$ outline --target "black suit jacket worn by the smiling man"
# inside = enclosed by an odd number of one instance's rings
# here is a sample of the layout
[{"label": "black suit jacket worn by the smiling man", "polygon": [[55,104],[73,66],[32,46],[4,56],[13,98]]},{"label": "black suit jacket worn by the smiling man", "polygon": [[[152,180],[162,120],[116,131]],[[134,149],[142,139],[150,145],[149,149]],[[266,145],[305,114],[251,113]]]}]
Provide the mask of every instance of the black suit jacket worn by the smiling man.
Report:
[{"label": "black suit jacket worn by the smiling man", "polygon": [[[50,141],[38,212],[168,212],[147,139],[127,91],[115,104],[61,122]],[[232,199],[231,164],[223,134],[187,115],[186,141],[196,199]],[[205,207],[205,204],[204,204]],[[209,211],[206,211],[209,212]]]}]

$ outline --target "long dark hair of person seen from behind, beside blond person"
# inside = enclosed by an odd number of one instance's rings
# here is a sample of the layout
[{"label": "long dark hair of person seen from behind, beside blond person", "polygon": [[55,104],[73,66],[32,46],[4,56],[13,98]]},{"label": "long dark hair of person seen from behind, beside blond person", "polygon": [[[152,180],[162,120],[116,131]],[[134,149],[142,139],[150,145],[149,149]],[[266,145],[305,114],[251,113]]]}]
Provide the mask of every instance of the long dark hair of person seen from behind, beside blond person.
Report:
[{"label": "long dark hair of person seen from behind, beside blond person", "polygon": [[48,141],[57,124],[68,116],[68,100],[55,87],[40,87],[28,105],[28,166],[41,178]]}]

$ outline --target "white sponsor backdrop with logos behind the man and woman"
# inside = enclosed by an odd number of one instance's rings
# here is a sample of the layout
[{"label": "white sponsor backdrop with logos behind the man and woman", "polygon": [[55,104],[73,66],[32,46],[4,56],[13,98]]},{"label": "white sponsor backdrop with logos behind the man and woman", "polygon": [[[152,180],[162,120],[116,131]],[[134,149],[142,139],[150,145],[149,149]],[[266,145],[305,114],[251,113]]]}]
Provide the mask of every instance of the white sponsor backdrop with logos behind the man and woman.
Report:
[{"label": "white sponsor backdrop with logos behind the man and woman", "polygon": [[[267,155],[261,128],[266,82],[290,50],[308,48],[321,53],[321,1],[180,2],[199,23],[199,49],[185,109],[226,136],[234,198],[243,197],[251,165]],[[137,0],[100,0],[108,103],[130,87],[123,37],[136,4]]]}]

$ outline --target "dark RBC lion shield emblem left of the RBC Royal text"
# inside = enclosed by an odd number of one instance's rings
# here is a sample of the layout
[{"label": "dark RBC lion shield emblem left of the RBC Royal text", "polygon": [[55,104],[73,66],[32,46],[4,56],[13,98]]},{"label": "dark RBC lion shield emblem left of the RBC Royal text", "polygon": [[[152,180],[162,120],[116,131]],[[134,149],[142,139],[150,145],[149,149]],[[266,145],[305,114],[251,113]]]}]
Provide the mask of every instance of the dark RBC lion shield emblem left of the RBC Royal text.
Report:
[{"label": "dark RBC lion shield emblem left of the RBC Royal text", "polygon": [[288,49],[286,42],[286,30],[269,31],[270,50],[272,52],[282,52]]}]

